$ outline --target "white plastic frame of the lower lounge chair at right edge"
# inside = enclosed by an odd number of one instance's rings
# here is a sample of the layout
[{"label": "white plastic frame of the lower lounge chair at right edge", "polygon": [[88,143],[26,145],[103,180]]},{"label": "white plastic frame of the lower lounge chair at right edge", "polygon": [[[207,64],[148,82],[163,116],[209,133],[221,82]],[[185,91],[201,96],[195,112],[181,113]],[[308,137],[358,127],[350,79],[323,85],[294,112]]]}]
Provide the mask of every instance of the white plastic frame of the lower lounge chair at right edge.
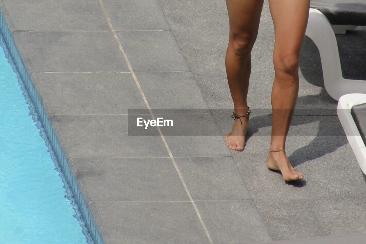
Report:
[{"label": "white plastic frame of the lower lounge chair at right edge", "polygon": [[[366,139],[365,141],[362,139],[358,128],[366,125],[366,119],[365,121],[355,121],[351,114],[352,107],[359,104],[366,104],[366,94],[352,93],[343,95],[338,101],[337,115],[344,132],[346,133],[347,140],[356,156],[358,164],[360,165],[363,173],[366,174]],[[363,115],[365,115],[365,112]],[[358,127],[356,124],[358,124]],[[365,133],[366,131],[363,132],[364,138],[366,137]]]}]

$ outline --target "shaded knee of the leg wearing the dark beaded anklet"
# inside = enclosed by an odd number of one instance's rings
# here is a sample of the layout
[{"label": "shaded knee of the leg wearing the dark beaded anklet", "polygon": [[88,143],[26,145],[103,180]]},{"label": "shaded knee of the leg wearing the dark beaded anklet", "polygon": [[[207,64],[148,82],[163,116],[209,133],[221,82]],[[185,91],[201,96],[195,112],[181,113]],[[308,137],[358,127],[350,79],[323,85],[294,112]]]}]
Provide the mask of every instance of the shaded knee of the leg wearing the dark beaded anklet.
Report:
[{"label": "shaded knee of the leg wearing the dark beaded anklet", "polygon": [[236,56],[247,56],[253,48],[255,37],[249,33],[234,33],[231,46]]}]

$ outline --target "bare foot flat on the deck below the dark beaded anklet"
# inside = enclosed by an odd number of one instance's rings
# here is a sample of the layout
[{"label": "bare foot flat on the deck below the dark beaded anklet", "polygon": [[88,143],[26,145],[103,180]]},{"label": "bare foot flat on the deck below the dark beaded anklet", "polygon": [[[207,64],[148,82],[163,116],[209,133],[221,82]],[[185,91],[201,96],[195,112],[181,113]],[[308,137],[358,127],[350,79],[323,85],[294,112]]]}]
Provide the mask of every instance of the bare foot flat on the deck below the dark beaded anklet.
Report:
[{"label": "bare foot flat on the deck below the dark beaded anklet", "polygon": [[231,132],[224,136],[224,140],[229,149],[243,151],[245,144],[245,135],[247,133],[248,126],[249,116],[243,116],[235,119]]}]

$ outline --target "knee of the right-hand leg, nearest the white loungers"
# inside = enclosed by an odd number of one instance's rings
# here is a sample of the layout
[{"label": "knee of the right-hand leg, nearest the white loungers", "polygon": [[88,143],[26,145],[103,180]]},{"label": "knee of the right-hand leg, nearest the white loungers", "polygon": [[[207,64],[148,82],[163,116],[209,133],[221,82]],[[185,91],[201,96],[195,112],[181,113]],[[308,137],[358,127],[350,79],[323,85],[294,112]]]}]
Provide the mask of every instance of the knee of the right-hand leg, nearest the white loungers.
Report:
[{"label": "knee of the right-hand leg, nearest the white loungers", "polygon": [[285,73],[291,76],[298,75],[299,55],[296,53],[280,53],[273,55],[275,72]]}]

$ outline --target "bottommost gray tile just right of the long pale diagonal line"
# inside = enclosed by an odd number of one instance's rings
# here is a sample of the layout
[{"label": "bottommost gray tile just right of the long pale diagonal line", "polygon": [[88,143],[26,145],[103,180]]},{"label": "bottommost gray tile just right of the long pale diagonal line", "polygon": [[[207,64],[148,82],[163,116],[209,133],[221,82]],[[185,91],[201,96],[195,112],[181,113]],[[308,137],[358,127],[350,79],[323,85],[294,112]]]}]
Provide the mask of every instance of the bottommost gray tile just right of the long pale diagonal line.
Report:
[{"label": "bottommost gray tile just right of the long pale diagonal line", "polygon": [[213,243],[254,243],[270,236],[251,200],[196,202]]}]

